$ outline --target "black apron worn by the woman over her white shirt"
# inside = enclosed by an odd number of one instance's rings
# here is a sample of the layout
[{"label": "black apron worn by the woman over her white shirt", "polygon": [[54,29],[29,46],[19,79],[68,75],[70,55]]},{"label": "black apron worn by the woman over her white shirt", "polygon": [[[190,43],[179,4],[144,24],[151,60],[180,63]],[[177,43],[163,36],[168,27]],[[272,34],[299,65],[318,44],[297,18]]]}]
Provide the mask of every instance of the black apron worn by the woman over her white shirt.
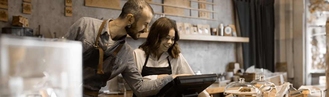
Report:
[{"label": "black apron worn by the woman over her white shirt", "polygon": [[[147,60],[148,60],[148,56],[145,59],[145,63],[144,63],[144,66],[143,66],[143,69],[141,72],[142,77],[149,76],[149,75],[162,75],[162,74],[170,75],[170,74],[172,74],[169,56],[167,57],[167,60],[169,63],[168,67],[147,67],[146,66]],[[133,97],[137,97],[137,96],[135,94],[133,94]],[[154,97],[154,95],[148,96],[148,97]]]}]

